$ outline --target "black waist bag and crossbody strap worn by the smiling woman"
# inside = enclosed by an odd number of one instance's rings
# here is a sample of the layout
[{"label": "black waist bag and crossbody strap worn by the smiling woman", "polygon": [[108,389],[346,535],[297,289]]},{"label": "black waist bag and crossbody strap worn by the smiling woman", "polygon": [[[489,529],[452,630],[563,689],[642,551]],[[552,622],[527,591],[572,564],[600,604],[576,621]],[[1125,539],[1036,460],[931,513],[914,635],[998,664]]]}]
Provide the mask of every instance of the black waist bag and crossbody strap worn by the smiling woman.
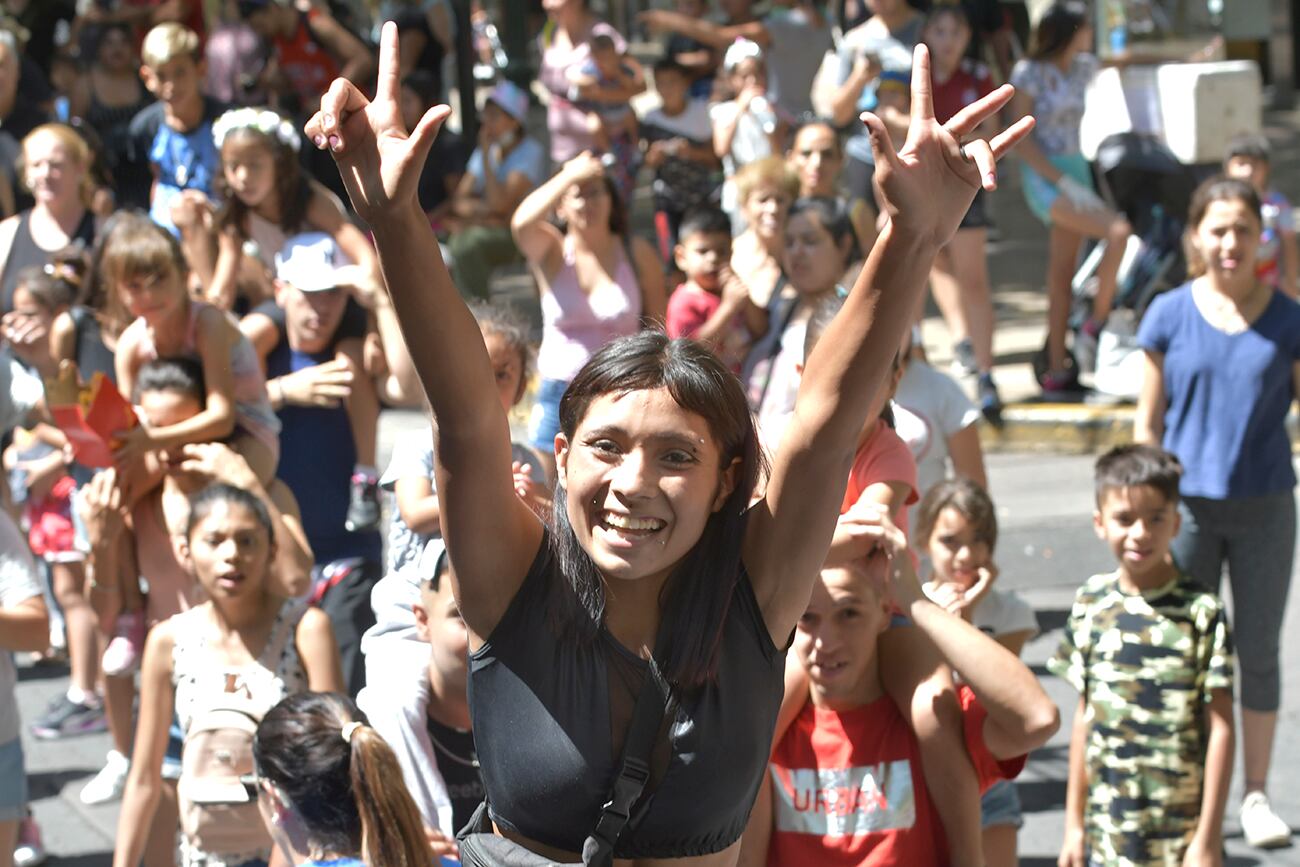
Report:
[{"label": "black waist bag and crossbody strap worn by the smiling woman", "polygon": [[[632,819],[633,805],[650,780],[650,753],[671,703],[668,682],[654,659],[650,659],[646,680],[632,711],[628,737],[623,744],[619,776],[601,809],[595,828],[582,844],[582,861],[577,863],[584,867],[610,867],[614,863],[614,846]],[[460,863],[465,867],[577,867],[577,863],[562,864],[543,858],[494,833],[486,801],[474,810],[469,823],[456,835],[456,841],[460,845]]]}]

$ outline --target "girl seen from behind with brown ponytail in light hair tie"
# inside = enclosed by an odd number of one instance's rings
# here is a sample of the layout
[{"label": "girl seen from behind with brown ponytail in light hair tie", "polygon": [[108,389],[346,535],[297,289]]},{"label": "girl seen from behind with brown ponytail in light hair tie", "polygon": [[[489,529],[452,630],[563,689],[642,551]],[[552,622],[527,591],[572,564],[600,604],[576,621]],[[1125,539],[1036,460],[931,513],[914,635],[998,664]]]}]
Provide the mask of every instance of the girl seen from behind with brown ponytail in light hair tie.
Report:
[{"label": "girl seen from behind with brown ponytail in light hair tie", "polygon": [[396,757],[346,695],[285,698],[263,718],[252,754],[257,803],[289,863],[434,863]]}]

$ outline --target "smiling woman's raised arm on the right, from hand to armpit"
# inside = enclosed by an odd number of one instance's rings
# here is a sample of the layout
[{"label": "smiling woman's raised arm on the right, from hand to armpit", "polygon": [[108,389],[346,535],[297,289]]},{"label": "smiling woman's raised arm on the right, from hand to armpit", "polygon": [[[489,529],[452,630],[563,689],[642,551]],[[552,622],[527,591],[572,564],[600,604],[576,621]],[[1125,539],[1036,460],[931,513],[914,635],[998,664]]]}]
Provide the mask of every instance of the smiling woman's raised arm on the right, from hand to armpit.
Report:
[{"label": "smiling woman's raised arm on the right, from hand to armpit", "polygon": [[992,142],[962,144],[1011,94],[1004,86],[940,125],[931,99],[930,53],[918,45],[911,125],[902,151],[894,151],[879,117],[862,116],[889,221],[844,309],[807,359],[767,497],[755,506],[745,534],[745,565],[779,643],[807,606],[867,408],[889,373],[935,253],[957,231],[976,190],[996,186],[997,159],[1034,127],[1026,117]]}]

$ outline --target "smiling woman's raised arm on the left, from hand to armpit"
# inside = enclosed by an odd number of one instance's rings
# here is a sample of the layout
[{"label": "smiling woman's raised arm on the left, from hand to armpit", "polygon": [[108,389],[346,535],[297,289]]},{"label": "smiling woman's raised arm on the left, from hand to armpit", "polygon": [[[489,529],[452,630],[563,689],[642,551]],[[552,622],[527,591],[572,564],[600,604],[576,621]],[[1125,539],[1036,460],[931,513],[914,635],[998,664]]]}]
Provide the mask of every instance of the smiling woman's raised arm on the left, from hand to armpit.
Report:
[{"label": "smiling woman's raised arm on the left, from hand to armpit", "polygon": [[398,78],[398,31],[389,22],[374,100],[337,79],[308,121],[307,138],[334,155],[352,207],[374,233],[402,334],[437,419],[436,474],[442,533],[456,563],[456,598],[471,633],[486,638],[523,584],[542,526],[515,495],[510,425],[488,350],[416,196],[429,148],[451,109],[430,108],[408,133]]}]

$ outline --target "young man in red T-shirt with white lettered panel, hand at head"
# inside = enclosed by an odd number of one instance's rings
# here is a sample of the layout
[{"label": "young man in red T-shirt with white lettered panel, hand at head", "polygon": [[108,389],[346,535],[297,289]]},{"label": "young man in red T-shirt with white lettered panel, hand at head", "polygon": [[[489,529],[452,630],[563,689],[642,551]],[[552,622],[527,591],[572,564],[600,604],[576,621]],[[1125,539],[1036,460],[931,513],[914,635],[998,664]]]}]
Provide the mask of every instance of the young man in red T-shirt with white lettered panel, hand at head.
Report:
[{"label": "young man in red T-shirt with white lettered panel, hand at head", "polygon": [[876,640],[893,601],[959,671],[962,733],[980,788],[1013,779],[1026,754],[1060,725],[1056,705],[1014,654],[920,590],[905,542],[881,513],[878,533],[897,551],[828,568],[794,634],[793,660],[811,702],[777,741],[745,832],[742,864],[866,867],[949,863],[926,789],[916,736],[885,693]]}]

